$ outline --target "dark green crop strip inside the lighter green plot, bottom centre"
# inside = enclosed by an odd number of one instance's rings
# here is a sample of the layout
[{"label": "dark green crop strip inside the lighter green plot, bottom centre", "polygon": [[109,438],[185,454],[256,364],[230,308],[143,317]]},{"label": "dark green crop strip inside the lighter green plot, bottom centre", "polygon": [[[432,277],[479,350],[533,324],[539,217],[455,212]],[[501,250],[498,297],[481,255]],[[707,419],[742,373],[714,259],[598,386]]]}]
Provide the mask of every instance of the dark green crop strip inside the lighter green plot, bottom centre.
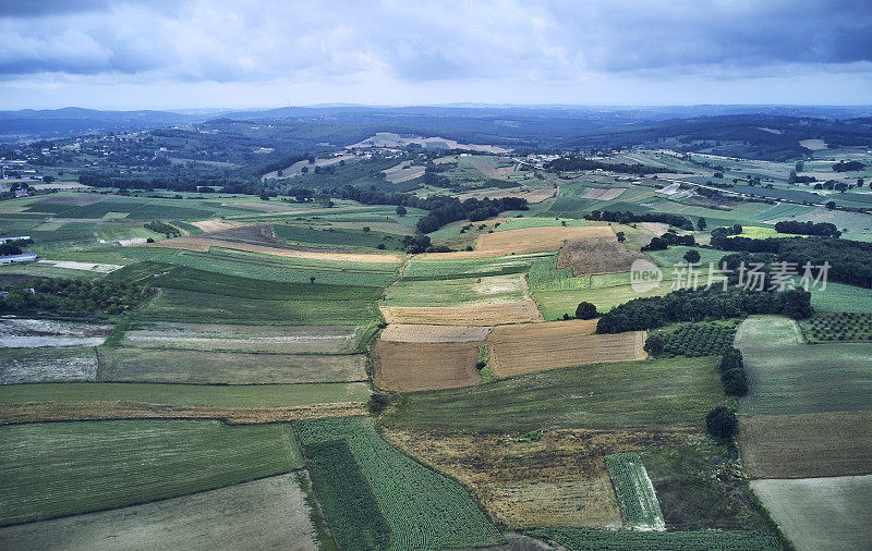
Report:
[{"label": "dark green crop strip inside the lighter green plot, bottom centre", "polygon": [[340,549],[387,549],[388,527],[343,440],[306,445],[312,479]]}]

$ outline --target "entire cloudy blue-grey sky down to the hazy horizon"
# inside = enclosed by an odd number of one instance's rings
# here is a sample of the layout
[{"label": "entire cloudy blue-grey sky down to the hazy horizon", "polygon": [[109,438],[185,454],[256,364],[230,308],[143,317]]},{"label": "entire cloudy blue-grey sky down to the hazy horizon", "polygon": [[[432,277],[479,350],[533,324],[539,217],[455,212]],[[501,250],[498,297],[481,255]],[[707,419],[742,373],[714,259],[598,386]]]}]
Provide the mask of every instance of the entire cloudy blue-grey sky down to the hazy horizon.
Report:
[{"label": "entire cloudy blue-grey sky down to the hazy horizon", "polygon": [[0,0],[0,109],[872,105],[872,0]]}]

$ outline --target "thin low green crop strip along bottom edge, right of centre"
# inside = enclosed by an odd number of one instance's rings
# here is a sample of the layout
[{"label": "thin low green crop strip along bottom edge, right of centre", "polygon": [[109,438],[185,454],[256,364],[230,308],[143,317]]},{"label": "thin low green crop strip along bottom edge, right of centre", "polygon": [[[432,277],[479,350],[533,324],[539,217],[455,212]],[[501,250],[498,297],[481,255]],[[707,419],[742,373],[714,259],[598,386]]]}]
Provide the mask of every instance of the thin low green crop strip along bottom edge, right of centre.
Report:
[{"label": "thin low green crop strip along bottom edge, right of centre", "polygon": [[782,549],[771,534],[750,530],[637,531],[584,528],[540,528],[528,536],[554,541],[573,550],[756,551]]}]

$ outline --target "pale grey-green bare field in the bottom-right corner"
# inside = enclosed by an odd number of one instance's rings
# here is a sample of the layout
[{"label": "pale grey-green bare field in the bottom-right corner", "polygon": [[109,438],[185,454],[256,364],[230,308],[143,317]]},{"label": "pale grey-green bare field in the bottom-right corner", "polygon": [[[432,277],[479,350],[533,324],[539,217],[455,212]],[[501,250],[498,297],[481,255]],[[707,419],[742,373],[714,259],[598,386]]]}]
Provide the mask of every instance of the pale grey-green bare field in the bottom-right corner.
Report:
[{"label": "pale grey-green bare field in the bottom-right corner", "polygon": [[753,480],[751,488],[797,551],[872,541],[872,476]]}]

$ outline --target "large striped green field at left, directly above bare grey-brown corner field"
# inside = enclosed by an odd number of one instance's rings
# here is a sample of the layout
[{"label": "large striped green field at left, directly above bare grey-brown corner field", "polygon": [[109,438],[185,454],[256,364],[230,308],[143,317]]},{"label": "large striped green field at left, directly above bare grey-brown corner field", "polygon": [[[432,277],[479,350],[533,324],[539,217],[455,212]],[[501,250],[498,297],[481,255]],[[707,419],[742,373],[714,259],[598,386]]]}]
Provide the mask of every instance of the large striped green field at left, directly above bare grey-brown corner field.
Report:
[{"label": "large striped green field at left, directly above bare grey-brown corner field", "polygon": [[302,465],[287,425],[55,423],[0,434],[0,525],[174,498]]}]

